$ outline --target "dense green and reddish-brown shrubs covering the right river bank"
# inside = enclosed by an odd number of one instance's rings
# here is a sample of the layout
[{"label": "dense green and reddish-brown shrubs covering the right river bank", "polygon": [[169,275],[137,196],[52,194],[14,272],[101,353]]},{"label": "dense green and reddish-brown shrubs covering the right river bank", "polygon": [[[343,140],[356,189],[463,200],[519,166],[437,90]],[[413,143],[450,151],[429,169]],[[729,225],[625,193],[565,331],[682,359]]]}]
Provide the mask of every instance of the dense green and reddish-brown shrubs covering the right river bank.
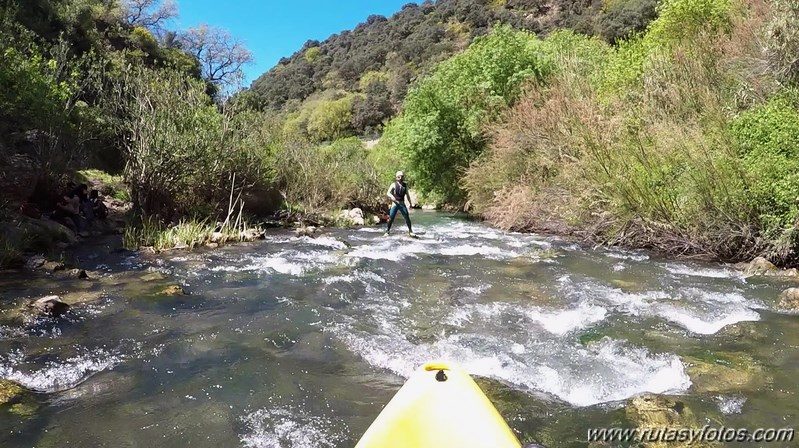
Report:
[{"label": "dense green and reddish-brown shrubs covering the right river bank", "polygon": [[[512,229],[796,263],[796,27],[783,9],[667,0],[616,47],[573,40],[595,50],[561,51],[554,75],[489,126],[463,179],[471,204]],[[758,44],[775,30],[783,41]]]}]

